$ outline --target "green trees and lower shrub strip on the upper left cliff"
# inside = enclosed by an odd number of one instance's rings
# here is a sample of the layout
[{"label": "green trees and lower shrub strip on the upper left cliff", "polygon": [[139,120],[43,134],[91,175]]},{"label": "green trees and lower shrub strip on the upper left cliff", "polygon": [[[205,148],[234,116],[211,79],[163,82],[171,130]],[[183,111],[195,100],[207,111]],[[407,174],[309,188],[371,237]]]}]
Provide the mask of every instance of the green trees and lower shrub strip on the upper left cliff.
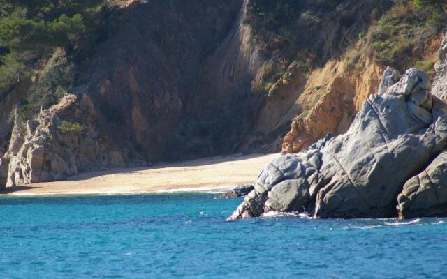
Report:
[{"label": "green trees and lower shrub strip on the upper left cliff", "polygon": [[[0,93],[36,78],[38,69],[43,73],[22,101],[21,116],[29,119],[70,89],[75,65],[88,59],[107,38],[109,24],[117,22],[119,15],[111,12],[103,0],[0,0]],[[115,18],[108,20],[110,15]]]}]

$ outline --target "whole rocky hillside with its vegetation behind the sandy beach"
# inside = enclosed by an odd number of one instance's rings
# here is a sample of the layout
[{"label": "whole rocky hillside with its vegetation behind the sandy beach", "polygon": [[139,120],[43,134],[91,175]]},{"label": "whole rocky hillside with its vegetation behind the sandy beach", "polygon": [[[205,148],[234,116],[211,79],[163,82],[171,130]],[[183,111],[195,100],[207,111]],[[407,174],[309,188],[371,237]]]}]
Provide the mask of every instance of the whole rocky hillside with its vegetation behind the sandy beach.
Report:
[{"label": "whole rocky hillside with its vegetation behind the sandy beach", "polygon": [[444,20],[397,0],[52,2],[1,1],[0,185],[300,151],[346,132],[387,65],[430,68]]}]

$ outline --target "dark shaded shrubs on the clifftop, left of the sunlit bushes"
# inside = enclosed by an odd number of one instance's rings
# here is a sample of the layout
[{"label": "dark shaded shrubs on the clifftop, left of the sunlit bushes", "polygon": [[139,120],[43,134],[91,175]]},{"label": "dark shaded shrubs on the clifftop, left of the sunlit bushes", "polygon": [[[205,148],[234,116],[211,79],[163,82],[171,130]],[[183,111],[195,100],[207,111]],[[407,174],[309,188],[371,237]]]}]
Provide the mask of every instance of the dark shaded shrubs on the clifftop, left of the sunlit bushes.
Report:
[{"label": "dark shaded shrubs on the clifftop, left of the sunlit bushes", "polygon": [[252,86],[252,91],[264,93],[292,63],[309,72],[342,56],[390,4],[390,0],[365,1],[364,5],[348,0],[249,1],[245,23],[251,26],[261,54],[271,62],[264,70],[263,84]]}]

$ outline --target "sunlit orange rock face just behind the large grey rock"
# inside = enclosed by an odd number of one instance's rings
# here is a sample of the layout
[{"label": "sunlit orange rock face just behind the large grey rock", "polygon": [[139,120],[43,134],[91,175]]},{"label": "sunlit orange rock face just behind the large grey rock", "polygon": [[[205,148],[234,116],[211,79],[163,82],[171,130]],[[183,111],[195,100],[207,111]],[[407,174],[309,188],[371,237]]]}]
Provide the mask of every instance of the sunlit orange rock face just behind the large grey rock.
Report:
[{"label": "sunlit orange rock face just behind the large grey rock", "polygon": [[309,110],[292,121],[282,144],[284,153],[305,149],[327,133],[346,132],[367,96],[378,88],[383,71],[367,59],[362,63],[362,73],[349,69],[346,61],[330,61],[309,75],[299,100]]}]

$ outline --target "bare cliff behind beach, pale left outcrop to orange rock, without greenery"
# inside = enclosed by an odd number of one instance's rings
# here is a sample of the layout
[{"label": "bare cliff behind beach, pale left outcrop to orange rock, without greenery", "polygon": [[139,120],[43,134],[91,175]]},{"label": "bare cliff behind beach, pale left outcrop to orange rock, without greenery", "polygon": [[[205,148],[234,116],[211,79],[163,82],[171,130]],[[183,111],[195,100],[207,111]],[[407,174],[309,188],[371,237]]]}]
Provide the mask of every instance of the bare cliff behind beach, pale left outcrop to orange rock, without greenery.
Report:
[{"label": "bare cliff behind beach, pale left outcrop to orange rock, without greenery", "polygon": [[281,146],[297,152],[326,133],[346,132],[379,86],[383,66],[362,56],[353,67],[344,54],[387,0],[294,4],[287,28],[295,35],[267,46],[252,23],[263,1],[112,2],[127,19],[75,65],[59,104],[32,119],[14,113],[48,70],[71,65],[60,50],[2,95],[6,186],[160,160]]}]

